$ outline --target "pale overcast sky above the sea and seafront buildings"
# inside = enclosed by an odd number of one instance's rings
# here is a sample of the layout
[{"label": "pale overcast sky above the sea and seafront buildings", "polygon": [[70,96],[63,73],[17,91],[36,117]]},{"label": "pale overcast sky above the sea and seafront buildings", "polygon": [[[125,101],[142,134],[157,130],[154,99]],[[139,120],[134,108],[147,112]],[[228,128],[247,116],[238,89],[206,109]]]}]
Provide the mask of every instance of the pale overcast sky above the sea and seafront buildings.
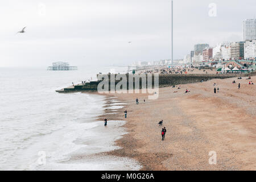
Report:
[{"label": "pale overcast sky above the sea and seafront buildings", "polygon": [[[217,16],[209,16],[210,3]],[[255,7],[255,0],[174,0],[174,59],[196,43],[242,40],[242,20],[254,18]],[[0,67],[171,58],[171,0],[9,0],[0,3],[0,20]]]}]

